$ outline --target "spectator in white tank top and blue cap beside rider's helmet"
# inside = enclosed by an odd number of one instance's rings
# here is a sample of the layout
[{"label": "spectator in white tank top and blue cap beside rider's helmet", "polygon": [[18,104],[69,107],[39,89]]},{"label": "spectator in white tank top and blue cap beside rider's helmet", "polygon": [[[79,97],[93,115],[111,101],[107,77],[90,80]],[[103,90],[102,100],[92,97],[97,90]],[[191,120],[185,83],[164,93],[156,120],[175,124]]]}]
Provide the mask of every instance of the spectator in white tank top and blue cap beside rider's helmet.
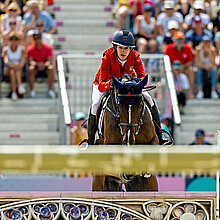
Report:
[{"label": "spectator in white tank top and blue cap beside rider's helmet", "polygon": [[[144,5],[143,15],[136,18],[134,34],[135,43],[140,54],[153,53],[157,49],[155,18],[152,17],[153,7],[149,4]],[[156,47],[156,48],[155,48]]]}]

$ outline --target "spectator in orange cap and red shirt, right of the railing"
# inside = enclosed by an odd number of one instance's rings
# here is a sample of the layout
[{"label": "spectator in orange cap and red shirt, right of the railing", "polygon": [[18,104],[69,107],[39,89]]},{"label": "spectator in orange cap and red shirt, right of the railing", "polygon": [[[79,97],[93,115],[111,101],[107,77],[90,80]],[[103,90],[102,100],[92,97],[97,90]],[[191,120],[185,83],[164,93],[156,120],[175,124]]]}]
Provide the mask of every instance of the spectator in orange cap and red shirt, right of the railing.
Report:
[{"label": "spectator in orange cap and red shirt, right of the railing", "polygon": [[194,70],[193,70],[193,53],[189,45],[184,43],[185,35],[181,31],[177,31],[174,36],[174,43],[169,44],[166,48],[165,54],[170,57],[170,62],[173,64],[175,60],[179,60],[182,66],[182,71],[187,74],[189,79],[189,94],[188,98],[194,98]]}]

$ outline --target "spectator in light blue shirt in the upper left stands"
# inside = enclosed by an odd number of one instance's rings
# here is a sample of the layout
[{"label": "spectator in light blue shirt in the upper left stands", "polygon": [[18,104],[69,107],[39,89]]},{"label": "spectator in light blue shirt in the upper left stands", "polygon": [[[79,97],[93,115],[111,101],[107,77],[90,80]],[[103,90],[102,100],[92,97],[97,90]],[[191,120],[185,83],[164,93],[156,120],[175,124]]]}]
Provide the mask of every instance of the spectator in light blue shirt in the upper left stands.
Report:
[{"label": "spectator in light blue shirt in the upper left stands", "polygon": [[24,15],[24,25],[27,31],[35,29],[37,20],[41,20],[44,23],[44,32],[54,34],[57,30],[56,22],[48,12],[39,9],[38,0],[30,0],[28,5],[30,12]]}]

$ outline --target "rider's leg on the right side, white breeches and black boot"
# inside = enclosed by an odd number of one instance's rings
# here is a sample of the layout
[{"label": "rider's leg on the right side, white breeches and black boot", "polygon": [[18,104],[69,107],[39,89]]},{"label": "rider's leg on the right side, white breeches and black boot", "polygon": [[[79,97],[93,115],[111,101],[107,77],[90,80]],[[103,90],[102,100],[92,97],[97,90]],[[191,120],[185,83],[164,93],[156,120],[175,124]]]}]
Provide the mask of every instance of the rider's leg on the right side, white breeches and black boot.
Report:
[{"label": "rider's leg on the right side, white breeches and black boot", "polygon": [[[157,125],[159,126],[159,128],[161,128],[160,116],[159,116],[157,105],[156,105],[155,101],[151,98],[151,96],[149,95],[149,93],[147,91],[143,92],[143,95],[149,101],[149,103],[151,105],[152,117],[153,117],[153,122],[154,122],[154,126],[155,126],[155,131],[156,131],[158,139],[159,139],[159,144],[163,145],[164,143],[167,143],[168,140],[163,139],[162,133],[160,133],[159,129],[157,128]],[[157,125],[155,125],[155,123]]]}]

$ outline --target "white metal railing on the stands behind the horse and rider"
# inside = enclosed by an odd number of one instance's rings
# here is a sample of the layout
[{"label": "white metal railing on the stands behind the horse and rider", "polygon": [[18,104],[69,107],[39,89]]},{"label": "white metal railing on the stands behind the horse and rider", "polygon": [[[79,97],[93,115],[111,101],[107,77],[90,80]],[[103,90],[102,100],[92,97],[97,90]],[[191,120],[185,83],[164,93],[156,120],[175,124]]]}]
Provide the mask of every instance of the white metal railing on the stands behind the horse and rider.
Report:
[{"label": "white metal railing on the stands behind the horse and rider", "polygon": [[[58,65],[58,75],[59,75],[59,85],[60,85],[60,132],[61,132],[61,143],[62,144],[68,144],[68,138],[67,138],[67,128],[69,127],[69,124],[71,123],[71,112],[75,112],[76,109],[71,109],[69,100],[68,100],[68,95],[67,95],[67,88],[66,88],[66,80],[65,80],[65,68],[64,68],[64,59],[99,59],[101,60],[101,55],[93,54],[93,55],[86,55],[86,54],[64,54],[64,55],[59,55],[57,57],[57,65]],[[178,129],[179,125],[181,124],[181,118],[180,118],[180,112],[179,112],[179,107],[178,107],[178,101],[177,101],[177,96],[176,96],[176,90],[175,90],[175,84],[173,80],[173,75],[171,71],[171,65],[170,65],[170,60],[167,55],[163,54],[143,54],[141,55],[141,59],[143,61],[147,59],[158,59],[162,60],[162,63],[164,64],[160,66],[159,68],[159,74],[160,74],[160,79],[163,78],[164,76],[164,71],[165,71],[165,76],[166,76],[166,81],[167,81],[167,88],[168,92],[170,94],[170,101],[171,101],[171,107],[172,107],[172,114],[173,114],[173,119],[174,119],[174,127]],[[98,70],[98,66],[97,66]],[[80,75],[80,71],[78,73]],[[94,73],[93,76],[95,75]],[[152,73],[153,74],[153,73]],[[92,76],[92,77],[93,77]],[[151,76],[151,73],[149,73],[149,76]],[[90,76],[91,77],[91,76]],[[92,82],[91,82],[92,85]],[[88,89],[88,88],[87,88]],[[81,88],[81,90],[83,90]],[[90,99],[91,97],[91,92],[90,94],[87,94],[87,100]],[[166,103],[166,91],[165,94],[163,94],[162,99],[163,103]],[[80,105],[80,104],[79,104]],[[166,113],[166,104],[163,104],[163,113]],[[87,109],[89,109],[90,102],[88,101],[87,103]],[[85,107],[85,106],[84,106]],[[175,129],[174,129],[175,131]],[[174,132],[175,136],[175,132]],[[174,137],[175,139],[175,137]]]}]

